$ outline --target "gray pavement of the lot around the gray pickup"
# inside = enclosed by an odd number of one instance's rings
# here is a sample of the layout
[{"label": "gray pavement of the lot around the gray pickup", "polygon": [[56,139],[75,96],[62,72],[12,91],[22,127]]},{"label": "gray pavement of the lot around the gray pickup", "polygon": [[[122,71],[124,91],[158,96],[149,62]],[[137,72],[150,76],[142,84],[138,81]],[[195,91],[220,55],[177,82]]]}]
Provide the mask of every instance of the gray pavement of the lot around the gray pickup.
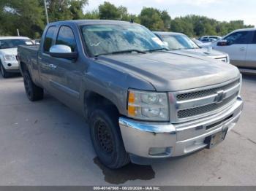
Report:
[{"label": "gray pavement of the lot around the gray pickup", "polygon": [[22,77],[0,77],[0,185],[256,185],[256,76],[241,95],[241,119],[214,149],[112,171],[83,117],[48,94],[31,103]]}]

